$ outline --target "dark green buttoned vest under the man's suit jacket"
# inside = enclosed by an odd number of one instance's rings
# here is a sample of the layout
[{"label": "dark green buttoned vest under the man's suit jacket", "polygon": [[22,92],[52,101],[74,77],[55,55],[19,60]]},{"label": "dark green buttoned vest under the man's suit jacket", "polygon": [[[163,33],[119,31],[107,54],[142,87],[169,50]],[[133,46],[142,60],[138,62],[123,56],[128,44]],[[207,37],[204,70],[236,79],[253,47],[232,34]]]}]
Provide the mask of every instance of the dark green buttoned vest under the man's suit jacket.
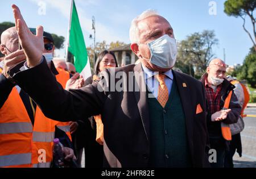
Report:
[{"label": "dark green buttoned vest under the man's suit jacket", "polygon": [[156,98],[148,98],[148,110],[150,167],[191,166],[185,116],[175,80],[166,106],[163,108]]}]

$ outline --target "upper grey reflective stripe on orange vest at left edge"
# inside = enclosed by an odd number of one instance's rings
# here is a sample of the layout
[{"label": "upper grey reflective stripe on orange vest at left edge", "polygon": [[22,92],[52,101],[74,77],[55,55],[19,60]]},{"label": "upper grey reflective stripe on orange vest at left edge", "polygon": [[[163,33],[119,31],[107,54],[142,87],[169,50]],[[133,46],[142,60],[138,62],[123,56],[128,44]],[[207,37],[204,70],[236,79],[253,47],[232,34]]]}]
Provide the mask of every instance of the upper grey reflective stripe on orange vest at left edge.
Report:
[{"label": "upper grey reflective stripe on orange vest at left edge", "polygon": [[0,123],[0,134],[32,132],[32,124],[28,122]]}]

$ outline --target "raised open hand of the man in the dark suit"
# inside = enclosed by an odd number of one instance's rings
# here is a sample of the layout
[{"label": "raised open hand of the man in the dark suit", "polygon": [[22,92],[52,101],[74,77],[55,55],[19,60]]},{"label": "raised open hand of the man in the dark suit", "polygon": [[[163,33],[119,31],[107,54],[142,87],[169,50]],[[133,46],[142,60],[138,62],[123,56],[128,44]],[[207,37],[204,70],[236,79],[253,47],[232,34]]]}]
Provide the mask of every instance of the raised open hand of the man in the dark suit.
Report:
[{"label": "raised open hand of the man in the dark suit", "polygon": [[43,41],[43,27],[38,26],[36,28],[36,35],[33,35],[30,29],[27,27],[19,7],[16,5],[11,6],[13,8],[15,26],[19,36],[19,43],[24,49],[24,53],[27,59],[28,67],[32,68],[38,65],[42,59],[44,41]]}]

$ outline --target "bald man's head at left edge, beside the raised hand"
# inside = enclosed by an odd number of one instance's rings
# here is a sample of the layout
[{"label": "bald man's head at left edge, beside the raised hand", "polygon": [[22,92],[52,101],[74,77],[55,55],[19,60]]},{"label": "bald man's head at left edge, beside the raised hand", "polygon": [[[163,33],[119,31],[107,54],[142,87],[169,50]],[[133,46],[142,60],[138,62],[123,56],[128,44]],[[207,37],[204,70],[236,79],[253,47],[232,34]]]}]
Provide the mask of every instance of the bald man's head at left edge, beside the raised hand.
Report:
[{"label": "bald man's head at left edge, beside the raised hand", "polygon": [[1,35],[0,50],[3,55],[9,55],[19,49],[19,38],[15,27],[8,28]]}]

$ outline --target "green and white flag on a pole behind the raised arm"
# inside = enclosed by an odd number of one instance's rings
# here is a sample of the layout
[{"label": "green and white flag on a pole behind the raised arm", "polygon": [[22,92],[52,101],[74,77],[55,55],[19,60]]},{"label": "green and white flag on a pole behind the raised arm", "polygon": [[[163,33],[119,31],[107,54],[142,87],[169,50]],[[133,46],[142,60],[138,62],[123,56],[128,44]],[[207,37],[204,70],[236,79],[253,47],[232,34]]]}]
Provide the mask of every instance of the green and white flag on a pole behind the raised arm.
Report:
[{"label": "green and white flag on a pole behind the raised arm", "polygon": [[82,35],[79,16],[77,14],[75,1],[73,0],[71,5],[71,18],[69,21],[66,61],[68,59],[68,53],[72,53],[72,55],[74,56],[74,65],[77,72],[80,73],[82,77],[86,79],[92,76],[90,61],[84,42],[84,35]]}]

